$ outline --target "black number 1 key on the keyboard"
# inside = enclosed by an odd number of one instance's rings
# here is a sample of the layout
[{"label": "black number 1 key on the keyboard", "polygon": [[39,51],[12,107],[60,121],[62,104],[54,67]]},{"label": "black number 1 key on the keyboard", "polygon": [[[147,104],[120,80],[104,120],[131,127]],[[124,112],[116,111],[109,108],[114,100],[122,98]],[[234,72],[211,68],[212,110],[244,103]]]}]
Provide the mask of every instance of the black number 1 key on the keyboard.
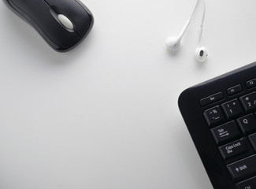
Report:
[{"label": "black number 1 key on the keyboard", "polygon": [[224,109],[224,113],[229,118],[237,117],[243,113],[243,109],[240,106],[239,100],[234,99],[221,105]]}]

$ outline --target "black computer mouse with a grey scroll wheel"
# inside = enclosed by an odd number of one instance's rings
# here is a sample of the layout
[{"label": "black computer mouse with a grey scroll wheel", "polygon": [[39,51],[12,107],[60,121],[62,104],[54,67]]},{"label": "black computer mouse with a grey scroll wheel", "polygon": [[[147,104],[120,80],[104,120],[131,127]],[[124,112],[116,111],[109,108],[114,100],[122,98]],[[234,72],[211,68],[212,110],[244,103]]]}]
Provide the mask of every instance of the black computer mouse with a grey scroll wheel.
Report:
[{"label": "black computer mouse with a grey scroll wheel", "polygon": [[83,41],[94,18],[79,0],[3,0],[27,20],[54,50],[66,52]]}]

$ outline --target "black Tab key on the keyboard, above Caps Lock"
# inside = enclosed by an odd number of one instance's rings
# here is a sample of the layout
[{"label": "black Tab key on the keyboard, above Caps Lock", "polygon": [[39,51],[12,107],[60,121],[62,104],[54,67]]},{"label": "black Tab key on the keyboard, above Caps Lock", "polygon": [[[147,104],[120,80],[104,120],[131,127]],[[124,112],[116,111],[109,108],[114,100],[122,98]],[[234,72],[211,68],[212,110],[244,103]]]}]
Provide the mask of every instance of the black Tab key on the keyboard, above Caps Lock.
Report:
[{"label": "black Tab key on the keyboard, above Caps Lock", "polygon": [[237,127],[234,120],[226,124],[222,124],[217,128],[211,129],[211,132],[217,145],[228,143],[233,139],[238,139],[241,135],[241,132],[239,131],[239,128]]}]

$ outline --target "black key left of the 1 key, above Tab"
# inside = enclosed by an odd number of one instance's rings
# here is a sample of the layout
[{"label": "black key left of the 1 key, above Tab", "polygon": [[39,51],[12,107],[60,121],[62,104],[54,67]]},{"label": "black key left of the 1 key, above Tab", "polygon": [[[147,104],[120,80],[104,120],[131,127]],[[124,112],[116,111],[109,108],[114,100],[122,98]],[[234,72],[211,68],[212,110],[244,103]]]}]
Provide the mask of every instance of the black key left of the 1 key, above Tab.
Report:
[{"label": "black key left of the 1 key, above Tab", "polygon": [[224,115],[221,112],[220,106],[207,109],[203,115],[205,116],[206,122],[209,126],[220,123],[222,120],[224,120]]}]

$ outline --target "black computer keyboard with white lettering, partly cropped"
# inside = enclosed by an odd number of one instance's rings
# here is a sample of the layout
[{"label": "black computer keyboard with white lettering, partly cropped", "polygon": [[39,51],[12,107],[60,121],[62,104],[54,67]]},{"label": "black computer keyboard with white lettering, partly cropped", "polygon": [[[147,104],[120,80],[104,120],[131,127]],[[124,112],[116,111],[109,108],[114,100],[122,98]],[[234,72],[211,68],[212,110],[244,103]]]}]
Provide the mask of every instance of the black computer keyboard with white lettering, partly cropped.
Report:
[{"label": "black computer keyboard with white lettering, partly cropped", "polygon": [[215,189],[256,189],[256,62],[188,88],[179,107]]}]

